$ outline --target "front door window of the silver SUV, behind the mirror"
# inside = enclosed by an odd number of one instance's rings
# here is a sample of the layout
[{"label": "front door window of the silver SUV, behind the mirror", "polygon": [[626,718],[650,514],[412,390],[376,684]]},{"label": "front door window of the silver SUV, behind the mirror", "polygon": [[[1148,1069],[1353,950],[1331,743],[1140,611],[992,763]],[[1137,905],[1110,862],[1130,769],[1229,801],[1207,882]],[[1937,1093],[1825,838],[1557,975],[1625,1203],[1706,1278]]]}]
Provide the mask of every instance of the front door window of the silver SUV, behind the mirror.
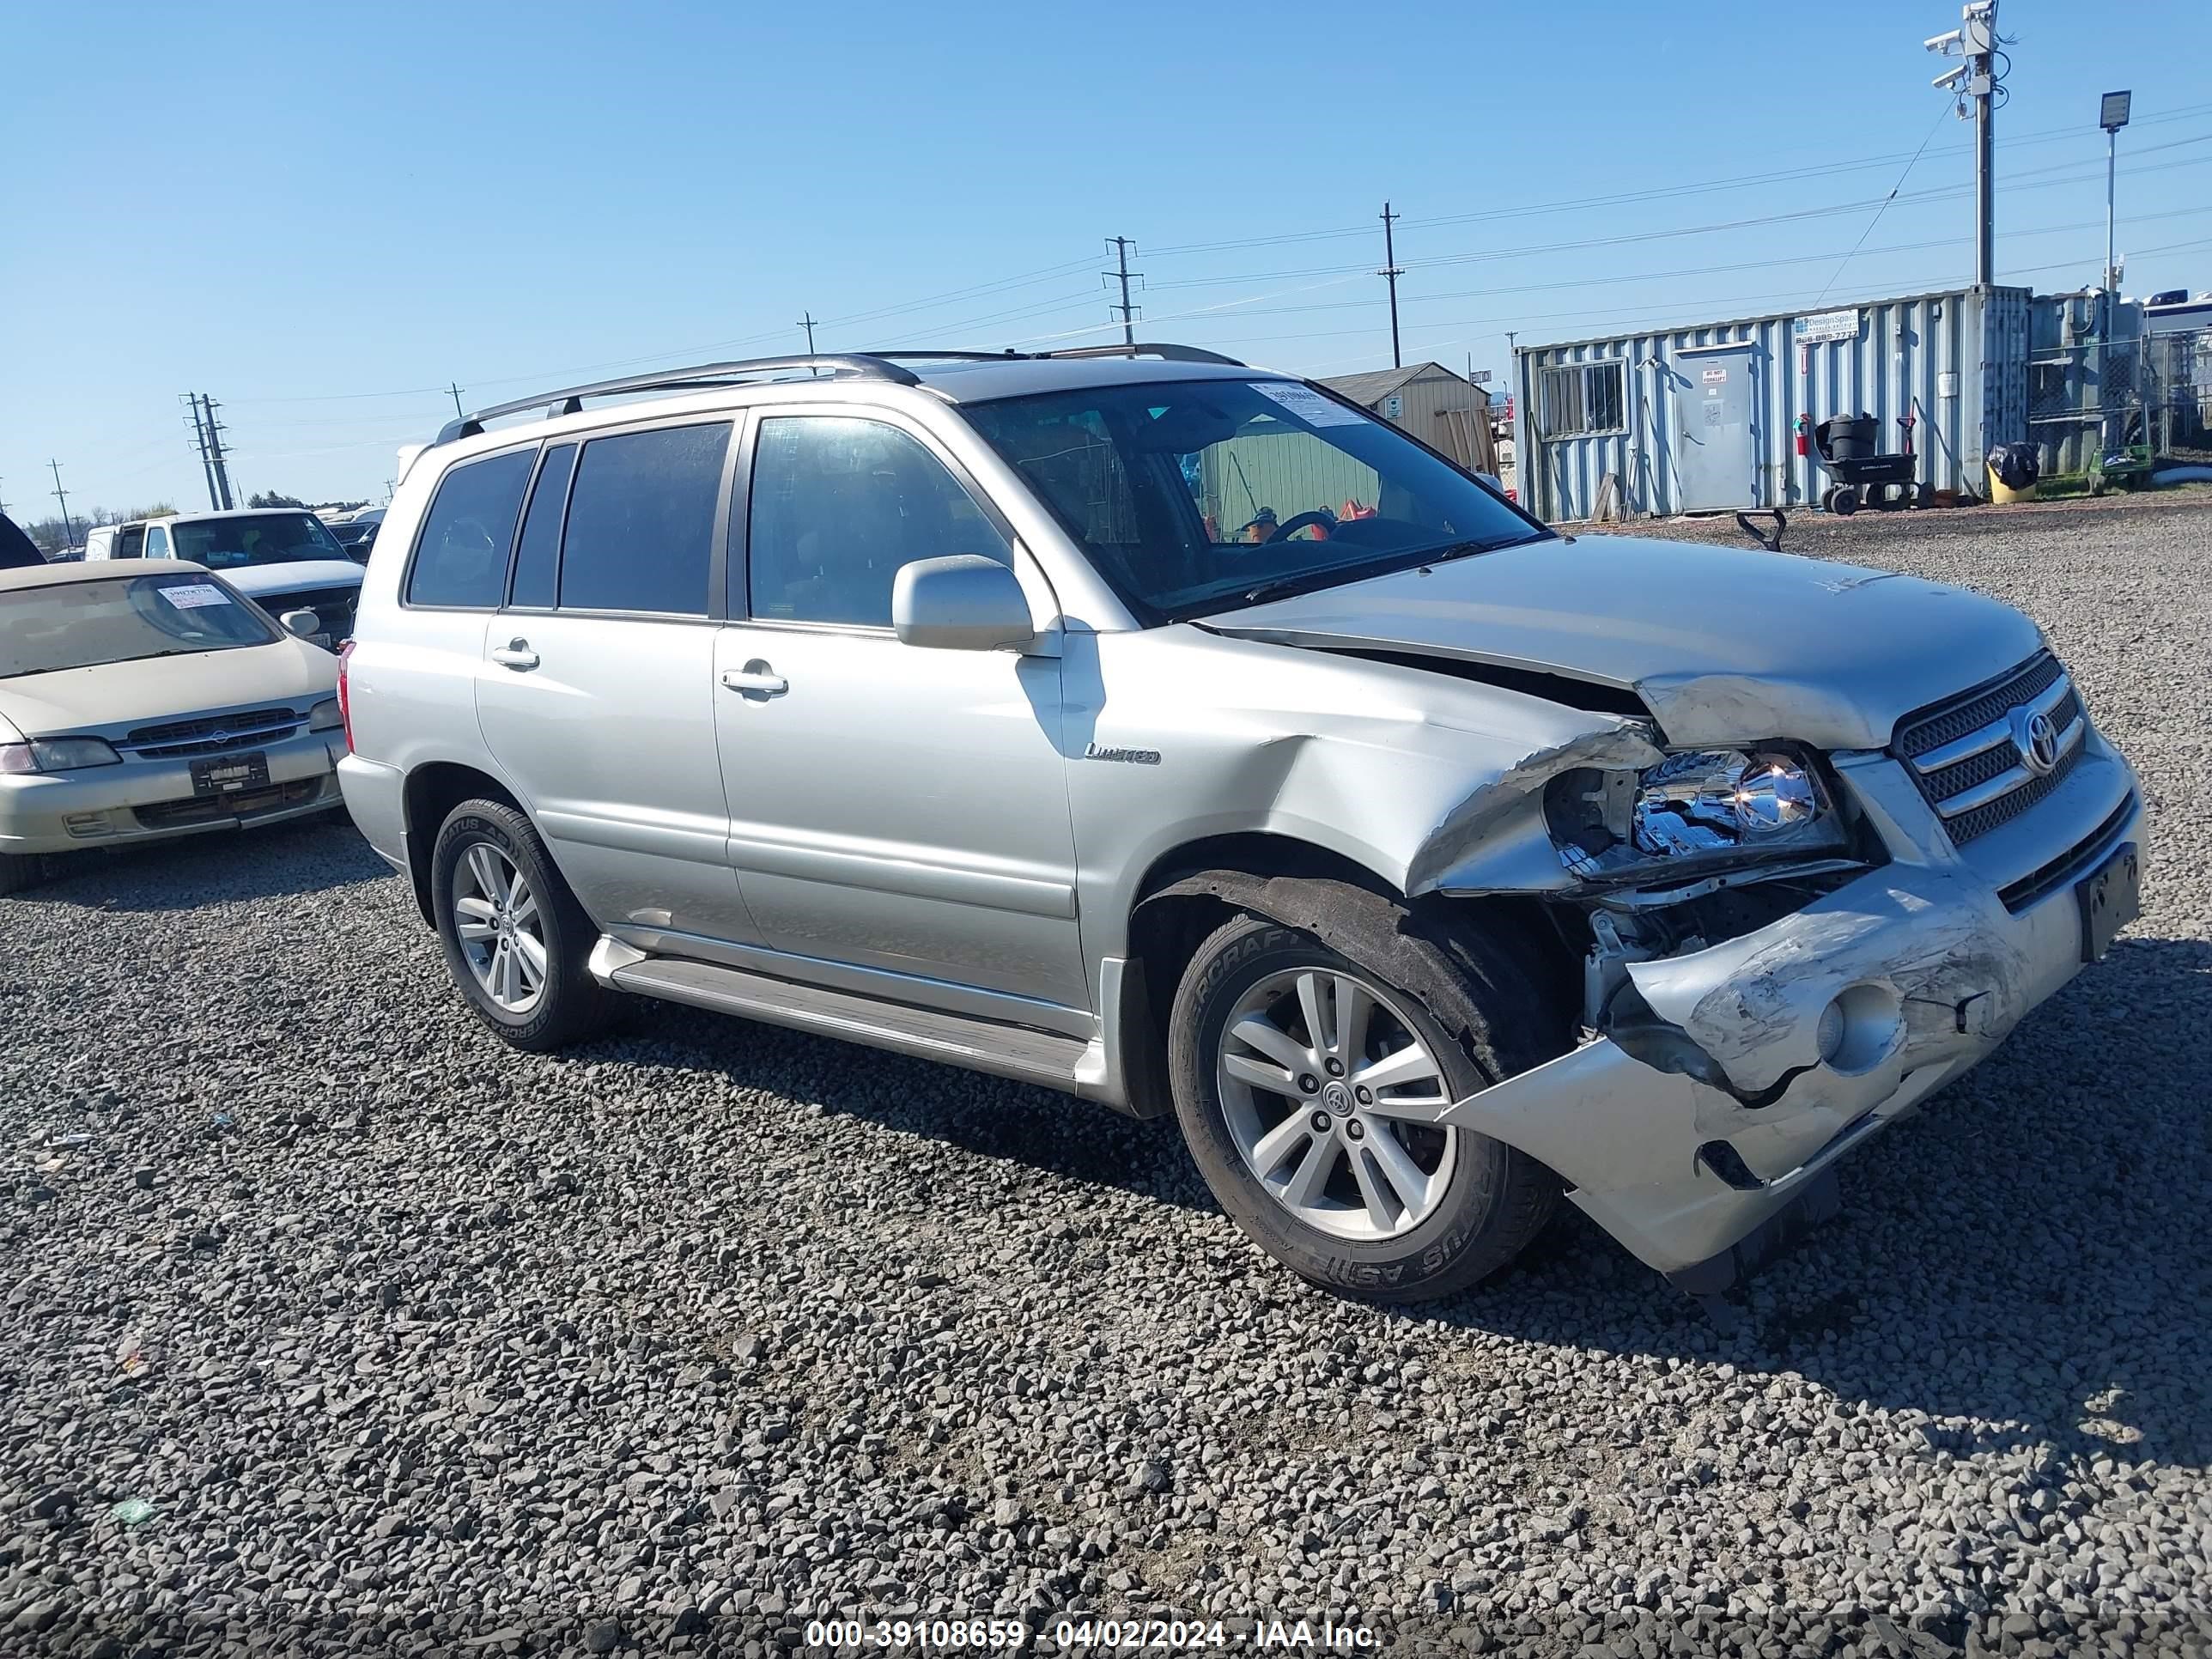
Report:
[{"label": "front door window of the silver SUV, behind the mirror", "polygon": [[748,531],[759,622],[891,626],[902,564],[1013,549],[929,449],[880,420],[779,416],[761,422]]}]

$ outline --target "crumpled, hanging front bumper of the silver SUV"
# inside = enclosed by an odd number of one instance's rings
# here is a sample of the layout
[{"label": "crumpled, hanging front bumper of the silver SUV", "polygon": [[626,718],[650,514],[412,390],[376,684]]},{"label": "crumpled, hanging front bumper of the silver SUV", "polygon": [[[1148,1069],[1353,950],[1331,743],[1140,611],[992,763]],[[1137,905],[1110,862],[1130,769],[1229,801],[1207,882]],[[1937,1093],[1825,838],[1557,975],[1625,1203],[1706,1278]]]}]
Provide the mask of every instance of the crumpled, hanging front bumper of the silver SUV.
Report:
[{"label": "crumpled, hanging front bumper of the silver SUV", "polygon": [[[1632,1020],[1455,1102],[1444,1121],[1548,1164],[1593,1221],[1694,1294],[1725,1290],[1818,1219],[1845,1152],[2081,971],[2079,883],[2124,847],[2143,852],[2135,779],[2101,741],[2070,792],[2095,792],[2104,816],[2002,887],[1878,768],[1893,763],[1871,761],[1858,783],[1876,785],[1893,863],[1741,938],[1628,964]],[[2079,818],[2048,823],[2073,834]],[[1823,1060],[1832,1004],[1845,1031]]]}]

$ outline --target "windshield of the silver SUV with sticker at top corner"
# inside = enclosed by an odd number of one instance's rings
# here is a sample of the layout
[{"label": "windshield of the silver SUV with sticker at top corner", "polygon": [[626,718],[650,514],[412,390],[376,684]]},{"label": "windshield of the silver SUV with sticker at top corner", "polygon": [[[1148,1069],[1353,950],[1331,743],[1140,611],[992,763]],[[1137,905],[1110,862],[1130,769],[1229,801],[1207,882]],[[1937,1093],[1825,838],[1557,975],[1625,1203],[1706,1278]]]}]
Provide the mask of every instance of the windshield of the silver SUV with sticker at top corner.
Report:
[{"label": "windshield of the silver SUV with sticker at top corner", "polygon": [[1144,622],[1551,535],[1396,427],[1292,380],[1088,387],[962,414]]}]

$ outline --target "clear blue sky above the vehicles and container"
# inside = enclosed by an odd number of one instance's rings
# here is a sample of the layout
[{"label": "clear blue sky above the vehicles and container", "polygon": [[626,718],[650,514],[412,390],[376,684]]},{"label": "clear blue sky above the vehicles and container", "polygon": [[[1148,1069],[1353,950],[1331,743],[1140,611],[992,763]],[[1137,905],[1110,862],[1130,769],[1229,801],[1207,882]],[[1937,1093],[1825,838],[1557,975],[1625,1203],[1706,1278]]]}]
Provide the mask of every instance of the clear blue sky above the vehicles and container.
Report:
[{"label": "clear blue sky above the vehicles and container", "polygon": [[[2212,7],[2099,11],[2002,4],[1997,279],[2095,281],[2097,95],[2130,86],[2126,290],[2212,288]],[[1146,334],[1383,367],[1385,197],[1409,361],[1944,288],[1971,276],[1971,126],[1920,42],[1955,24],[1955,0],[18,7],[0,500],[51,513],[60,458],[73,507],[204,502],[186,389],[223,403],[241,489],[380,498],[449,380],[476,407],[796,349],[805,310],[823,349],[1108,341],[1113,234]],[[1801,217],[1741,223],[1774,215]]]}]

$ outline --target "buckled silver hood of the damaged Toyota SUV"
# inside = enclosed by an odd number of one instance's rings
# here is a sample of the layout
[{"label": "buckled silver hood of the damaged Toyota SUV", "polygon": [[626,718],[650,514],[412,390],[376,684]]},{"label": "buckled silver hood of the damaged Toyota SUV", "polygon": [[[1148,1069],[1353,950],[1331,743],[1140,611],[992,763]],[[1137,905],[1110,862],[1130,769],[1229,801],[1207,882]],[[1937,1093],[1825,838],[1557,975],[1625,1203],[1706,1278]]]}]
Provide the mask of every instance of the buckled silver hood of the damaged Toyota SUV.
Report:
[{"label": "buckled silver hood of the damaged Toyota SUV", "polygon": [[2042,641],[1997,599],[1759,549],[1582,535],[1206,617],[1243,639],[1389,650],[1635,692],[1670,743],[1876,750],[1902,714]]}]

